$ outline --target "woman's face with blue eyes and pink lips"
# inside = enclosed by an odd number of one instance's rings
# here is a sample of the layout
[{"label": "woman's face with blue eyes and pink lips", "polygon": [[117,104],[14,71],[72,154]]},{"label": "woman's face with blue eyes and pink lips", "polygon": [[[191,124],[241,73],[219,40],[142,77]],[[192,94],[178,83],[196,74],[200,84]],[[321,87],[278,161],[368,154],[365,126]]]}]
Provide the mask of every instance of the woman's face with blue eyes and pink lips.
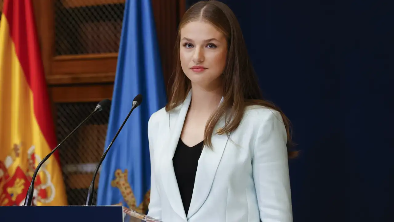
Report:
[{"label": "woman's face with blue eyes and pink lips", "polygon": [[180,64],[192,86],[221,86],[226,65],[227,41],[222,32],[204,21],[190,22],[180,30]]}]

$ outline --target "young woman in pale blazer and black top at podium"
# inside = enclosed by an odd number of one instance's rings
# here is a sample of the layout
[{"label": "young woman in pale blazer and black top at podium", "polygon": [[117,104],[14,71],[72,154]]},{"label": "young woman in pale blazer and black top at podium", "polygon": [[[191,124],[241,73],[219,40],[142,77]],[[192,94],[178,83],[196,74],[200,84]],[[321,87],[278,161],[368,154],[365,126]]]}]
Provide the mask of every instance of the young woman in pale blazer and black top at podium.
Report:
[{"label": "young woman in pale blazer and black top at podium", "polygon": [[238,21],[217,1],[180,22],[171,99],[149,119],[148,215],[291,222],[289,124],[263,100]]}]

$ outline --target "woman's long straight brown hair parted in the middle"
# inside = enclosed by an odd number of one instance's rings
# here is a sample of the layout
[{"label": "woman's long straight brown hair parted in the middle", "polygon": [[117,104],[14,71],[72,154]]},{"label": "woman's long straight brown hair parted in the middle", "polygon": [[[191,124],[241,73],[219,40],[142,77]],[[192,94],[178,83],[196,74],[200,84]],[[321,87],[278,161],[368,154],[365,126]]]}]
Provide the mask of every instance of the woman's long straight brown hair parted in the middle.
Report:
[{"label": "woman's long straight brown hair parted in the middle", "polygon": [[[215,0],[197,2],[184,14],[178,26],[178,36],[175,43],[175,71],[174,83],[171,89],[169,103],[165,110],[171,111],[186,99],[191,89],[191,82],[182,71],[179,58],[180,29],[191,21],[207,21],[223,32],[227,39],[228,53],[225,69],[223,70],[223,98],[219,108],[211,115],[205,126],[204,144],[212,147],[211,135],[219,119],[226,114],[225,127],[218,134],[228,134],[240,124],[245,107],[261,105],[279,111],[287,132],[288,157],[297,156],[297,151],[290,151],[292,138],[290,134],[290,121],[273,103],[263,99],[258,79],[246,50],[240,25],[231,9],[222,2]],[[227,112],[229,111],[229,112]]]}]

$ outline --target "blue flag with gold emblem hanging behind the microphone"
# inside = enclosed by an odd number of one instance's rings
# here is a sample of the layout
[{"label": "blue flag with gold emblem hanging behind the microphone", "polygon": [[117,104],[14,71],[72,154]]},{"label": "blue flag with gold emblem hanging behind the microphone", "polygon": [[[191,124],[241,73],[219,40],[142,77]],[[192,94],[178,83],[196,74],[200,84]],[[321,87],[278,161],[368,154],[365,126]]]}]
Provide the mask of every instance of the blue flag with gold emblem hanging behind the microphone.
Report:
[{"label": "blue flag with gold emblem hanging behind the microphone", "polygon": [[151,184],[147,135],[152,113],[166,93],[151,1],[126,1],[105,148],[123,123],[137,94],[143,96],[100,169],[97,205],[120,204],[146,213]]}]

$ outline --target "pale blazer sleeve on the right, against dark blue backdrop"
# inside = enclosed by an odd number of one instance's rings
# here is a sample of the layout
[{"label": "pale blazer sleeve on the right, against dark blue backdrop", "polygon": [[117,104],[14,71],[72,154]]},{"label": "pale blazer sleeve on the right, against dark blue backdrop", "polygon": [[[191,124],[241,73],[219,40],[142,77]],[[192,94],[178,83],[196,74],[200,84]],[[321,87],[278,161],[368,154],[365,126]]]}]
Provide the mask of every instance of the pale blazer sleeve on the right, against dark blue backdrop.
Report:
[{"label": "pale blazer sleeve on the right, against dark blue backdrop", "polygon": [[262,222],[293,221],[286,142],[280,113],[270,111],[258,128],[252,162]]}]

